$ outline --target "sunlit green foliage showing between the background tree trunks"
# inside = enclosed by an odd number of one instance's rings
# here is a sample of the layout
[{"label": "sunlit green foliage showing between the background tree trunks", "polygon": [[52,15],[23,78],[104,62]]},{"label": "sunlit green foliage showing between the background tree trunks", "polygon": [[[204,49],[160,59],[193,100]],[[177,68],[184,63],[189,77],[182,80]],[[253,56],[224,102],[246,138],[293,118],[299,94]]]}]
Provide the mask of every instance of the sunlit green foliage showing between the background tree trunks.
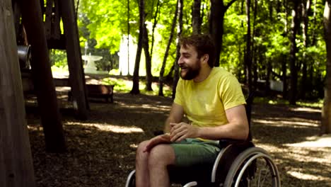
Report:
[{"label": "sunlit green foliage showing between the background tree trunks", "polygon": [[[160,1],[160,15],[155,33],[152,33],[152,26],[156,12],[157,0],[145,0],[146,25],[149,31],[149,42],[154,34],[152,56],[152,74],[158,76],[161,63],[164,57],[165,47],[170,36],[170,28],[175,16],[175,6],[177,0]],[[228,1],[223,1],[228,4]],[[290,2],[290,1],[289,1]],[[183,33],[189,35],[192,32],[192,3],[183,2]],[[254,7],[251,7],[251,33],[252,38],[253,65],[257,69],[257,79],[266,79],[267,66],[272,65],[272,71],[281,76],[281,64],[286,62],[289,76],[289,52],[291,38],[291,8],[289,3],[284,6],[284,1],[257,1],[257,14],[254,17]],[[202,18],[202,33],[209,33],[208,14],[210,1],[203,0],[204,7]],[[254,6],[254,3],[252,3]],[[139,8],[138,1],[129,1],[129,26],[130,35],[137,42],[139,33]],[[318,98],[323,93],[325,79],[325,42],[323,39],[323,9],[324,1],[317,0],[317,4],[312,4],[309,14],[308,44],[304,45],[302,28],[297,35],[296,53],[298,67],[298,86],[301,85],[303,62],[307,64],[308,81],[311,88],[310,98]],[[93,55],[103,56],[103,60],[97,62],[99,69],[109,70],[110,64],[115,64],[112,68],[117,68],[116,53],[119,50],[120,42],[127,36],[127,1],[105,1],[105,0],[81,0],[79,7],[79,34],[81,36],[81,47],[84,49],[85,42],[88,42],[88,50]],[[315,11],[315,17],[313,16]],[[236,74],[240,80],[245,78],[244,57],[246,50],[247,18],[245,15],[245,2],[236,1],[224,18],[223,48],[221,52],[221,67]],[[177,29],[177,28],[176,28]],[[177,33],[177,30],[175,30]],[[151,43],[149,44],[151,47]],[[165,67],[165,75],[170,71],[175,62],[176,42],[175,37],[170,45],[168,62]],[[82,50],[82,54],[84,54]],[[56,57],[55,57],[56,56]],[[52,62],[64,64],[64,60],[59,54],[55,55]],[[143,55],[144,56],[144,55]],[[144,62],[142,56],[141,62]],[[65,59],[65,58],[64,58]],[[59,61],[59,62],[57,62]],[[141,63],[144,64],[144,63]],[[271,79],[279,80],[279,77],[272,74]],[[124,86],[120,86],[124,88]],[[144,86],[141,86],[144,87]],[[131,86],[128,86],[131,89]],[[128,89],[128,90],[129,90]],[[154,89],[157,90],[157,89]]]}]

